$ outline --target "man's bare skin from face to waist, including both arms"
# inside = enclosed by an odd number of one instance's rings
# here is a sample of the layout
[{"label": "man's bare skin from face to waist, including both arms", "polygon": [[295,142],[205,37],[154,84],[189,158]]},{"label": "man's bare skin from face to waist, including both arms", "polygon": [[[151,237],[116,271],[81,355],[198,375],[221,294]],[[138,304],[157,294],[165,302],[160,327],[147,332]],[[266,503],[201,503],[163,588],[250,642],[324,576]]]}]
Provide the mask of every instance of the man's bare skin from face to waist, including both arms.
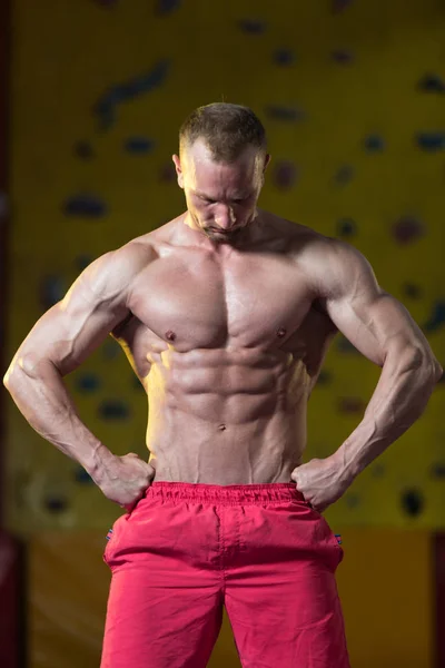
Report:
[{"label": "man's bare skin from face to waist, including both arms", "polygon": [[[187,212],[91,263],[4,376],[31,426],[122,508],[154,480],[291,480],[323,510],[408,429],[441,377],[358,250],[257,209],[268,160],[253,146],[216,160],[201,139],[174,156]],[[301,465],[307,401],[337,328],[383,373],[356,430]],[[150,462],[112,454],[62,382],[109,334],[147,392]]]}]

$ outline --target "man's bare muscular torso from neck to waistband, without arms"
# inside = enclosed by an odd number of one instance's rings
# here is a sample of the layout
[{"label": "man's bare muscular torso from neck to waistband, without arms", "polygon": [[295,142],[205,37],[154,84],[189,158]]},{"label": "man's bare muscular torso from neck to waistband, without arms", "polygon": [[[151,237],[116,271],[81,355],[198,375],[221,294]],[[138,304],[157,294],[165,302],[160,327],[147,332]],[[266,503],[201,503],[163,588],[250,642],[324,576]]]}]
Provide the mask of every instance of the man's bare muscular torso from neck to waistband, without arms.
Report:
[{"label": "man's bare muscular torso from neck to waistband, without arms", "polygon": [[298,263],[318,235],[261,212],[249,248],[211,252],[182,218],[134,242],[147,266],[112,332],[147,391],[156,480],[289,482],[336,331]]}]

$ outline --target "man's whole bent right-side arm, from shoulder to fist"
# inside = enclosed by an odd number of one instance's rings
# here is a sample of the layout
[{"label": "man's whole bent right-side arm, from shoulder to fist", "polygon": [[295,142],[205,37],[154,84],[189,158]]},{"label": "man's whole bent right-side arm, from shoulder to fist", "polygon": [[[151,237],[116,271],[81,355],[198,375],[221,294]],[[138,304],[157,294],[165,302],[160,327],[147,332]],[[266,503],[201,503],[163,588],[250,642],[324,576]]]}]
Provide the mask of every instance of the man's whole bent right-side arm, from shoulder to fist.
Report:
[{"label": "man's whole bent right-side arm, from shoulder to fist", "polygon": [[[313,460],[313,471],[308,462],[293,474],[297,489],[318,510],[336,501],[422,415],[443,373],[421,328],[378,286],[365,257],[335,240],[325,250],[323,267],[318,265],[316,272],[322,304],[354,346],[382,366],[382,374],[362,422],[334,455]],[[325,469],[318,484],[315,462],[319,462],[319,473]]]}]

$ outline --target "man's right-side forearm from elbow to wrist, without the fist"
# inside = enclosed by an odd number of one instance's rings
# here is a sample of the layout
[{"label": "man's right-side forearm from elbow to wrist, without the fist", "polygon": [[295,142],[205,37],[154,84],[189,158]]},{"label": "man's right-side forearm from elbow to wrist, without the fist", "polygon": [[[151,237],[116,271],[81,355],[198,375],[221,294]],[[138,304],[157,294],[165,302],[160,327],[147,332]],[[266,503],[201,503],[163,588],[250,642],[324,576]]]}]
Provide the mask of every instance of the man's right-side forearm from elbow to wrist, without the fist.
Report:
[{"label": "man's right-side forearm from elbow to wrist, without the fist", "polygon": [[424,412],[442,375],[438,363],[415,351],[389,354],[357,429],[335,453],[346,475],[356,478]]}]

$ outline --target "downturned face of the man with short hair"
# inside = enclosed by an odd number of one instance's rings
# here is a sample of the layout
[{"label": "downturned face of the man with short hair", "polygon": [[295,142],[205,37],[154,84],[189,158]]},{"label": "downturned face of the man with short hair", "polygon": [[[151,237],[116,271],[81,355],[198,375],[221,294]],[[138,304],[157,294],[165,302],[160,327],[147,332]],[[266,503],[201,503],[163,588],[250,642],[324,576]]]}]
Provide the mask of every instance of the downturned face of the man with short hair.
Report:
[{"label": "downturned face of the man with short hair", "polygon": [[256,207],[269,161],[255,147],[235,163],[216,163],[201,139],[174,156],[184,189],[190,227],[216,243],[234,243],[256,217]]}]

